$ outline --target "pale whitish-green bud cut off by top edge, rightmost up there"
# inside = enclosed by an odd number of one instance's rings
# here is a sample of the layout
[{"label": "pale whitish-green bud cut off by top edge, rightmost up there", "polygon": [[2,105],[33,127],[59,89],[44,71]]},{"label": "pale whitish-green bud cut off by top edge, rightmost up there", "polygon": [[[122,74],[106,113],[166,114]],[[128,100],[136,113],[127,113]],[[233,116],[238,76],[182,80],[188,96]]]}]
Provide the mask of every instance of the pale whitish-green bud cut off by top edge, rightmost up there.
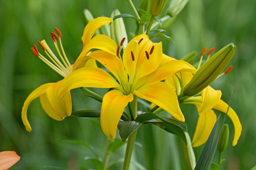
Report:
[{"label": "pale whitish-green bud cut off by top edge, rightmost up there", "polygon": [[186,6],[188,0],[172,0],[166,12],[170,17],[174,17]]}]

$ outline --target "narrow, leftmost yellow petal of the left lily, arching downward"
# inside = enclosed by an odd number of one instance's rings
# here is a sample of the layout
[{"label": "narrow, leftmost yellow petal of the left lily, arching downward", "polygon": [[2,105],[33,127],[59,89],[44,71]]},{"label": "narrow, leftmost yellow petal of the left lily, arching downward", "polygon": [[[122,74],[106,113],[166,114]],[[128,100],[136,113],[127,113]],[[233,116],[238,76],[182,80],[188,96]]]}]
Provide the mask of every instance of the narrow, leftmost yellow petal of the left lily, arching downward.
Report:
[{"label": "narrow, leftmost yellow petal of the left lily, arching downward", "polygon": [[29,104],[35,98],[38,98],[39,96],[42,96],[43,94],[45,94],[46,88],[48,88],[49,86],[51,86],[53,84],[55,84],[55,83],[46,83],[46,84],[39,86],[32,93],[30,93],[30,95],[28,95],[28,97],[26,98],[26,100],[23,104],[23,107],[22,107],[21,118],[22,118],[22,122],[25,125],[27,131],[29,131],[29,132],[31,131],[31,126],[28,122],[28,117],[27,117],[27,110],[28,110]]}]

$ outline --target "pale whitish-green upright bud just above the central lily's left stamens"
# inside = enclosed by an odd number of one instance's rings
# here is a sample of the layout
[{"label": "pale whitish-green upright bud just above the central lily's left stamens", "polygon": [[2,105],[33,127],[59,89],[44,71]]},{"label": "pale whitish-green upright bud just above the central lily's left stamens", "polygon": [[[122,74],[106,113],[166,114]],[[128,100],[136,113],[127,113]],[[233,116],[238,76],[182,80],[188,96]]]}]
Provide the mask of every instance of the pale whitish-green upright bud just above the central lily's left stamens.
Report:
[{"label": "pale whitish-green upright bud just above the central lily's left stamens", "polygon": [[[114,10],[112,14],[110,15],[110,18],[114,18],[117,15],[120,15],[118,9]],[[128,38],[127,33],[124,25],[123,18],[117,18],[110,24],[110,34],[111,38],[116,42],[116,45],[119,45],[122,41],[122,39],[125,37],[125,41],[123,43],[124,47],[128,44]]]}]

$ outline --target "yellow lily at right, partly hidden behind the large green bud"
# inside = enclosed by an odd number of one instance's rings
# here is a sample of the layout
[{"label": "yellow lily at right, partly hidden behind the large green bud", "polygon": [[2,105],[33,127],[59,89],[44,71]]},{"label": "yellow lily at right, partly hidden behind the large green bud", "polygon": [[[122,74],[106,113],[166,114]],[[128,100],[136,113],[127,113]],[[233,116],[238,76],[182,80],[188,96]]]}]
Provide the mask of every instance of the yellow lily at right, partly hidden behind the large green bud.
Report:
[{"label": "yellow lily at right, partly hidden behind the large green bud", "polygon": [[[191,72],[180,72],[172,76],[172,78],[165,80],[165,83],[168,84],[177,95],[181,95],[184,87],[190,82],[192,77],[193,74]],[[180,103],[194,104],[198,110],[199,117],[192,140],[193,147],[198,147],[207,141],[217,119],[212,109],[217,109],[223,113],[226,113],[228,109],[228,104],[220,99],[222,95],[220,90],[214,90],[212,87],[207,86],[200,94],[200,96],[186,96],[180,99]],[[228,110],[228,116],[234,124],[235,134],[232,145],[235,146],[240,137],[242,125],[236,112],[231,107]]]}]

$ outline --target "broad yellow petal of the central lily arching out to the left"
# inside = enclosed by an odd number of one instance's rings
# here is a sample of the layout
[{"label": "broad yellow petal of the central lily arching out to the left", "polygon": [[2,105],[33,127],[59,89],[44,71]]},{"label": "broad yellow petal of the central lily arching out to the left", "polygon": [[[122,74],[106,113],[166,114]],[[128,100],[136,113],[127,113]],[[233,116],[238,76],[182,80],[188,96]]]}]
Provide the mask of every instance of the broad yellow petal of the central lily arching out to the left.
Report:
[{"label": "broad yellow petal of the central lily arching out to the left", "polygon": [[74,88],[97,87],[97,88],[118,88],[120,85],[106,71],[97,67],[80,68],[66,76],[58,89],[58,97],[63,96]]}]

